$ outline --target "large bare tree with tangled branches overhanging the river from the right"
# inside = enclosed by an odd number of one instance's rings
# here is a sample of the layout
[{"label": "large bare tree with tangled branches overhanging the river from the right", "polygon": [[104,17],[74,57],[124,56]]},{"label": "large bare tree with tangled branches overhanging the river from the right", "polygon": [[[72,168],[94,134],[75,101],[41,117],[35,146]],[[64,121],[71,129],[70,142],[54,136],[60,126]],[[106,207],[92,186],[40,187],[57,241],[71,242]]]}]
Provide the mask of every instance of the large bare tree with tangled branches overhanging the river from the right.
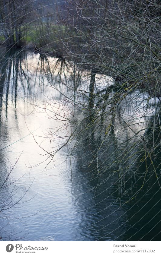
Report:
[{"label": "large bare tree with tangled branches overhanging the river from the right", "polygon": [[[155,165],[161,136],[159,14],[159,1],[76,0],[58,5],[59,21],[66,31],[66,37],[60,34],[63,56],[73,64],[73,72],[77,70],[81,75],[84,72],[85,76],[90,76],[88,86],[83,87],[86,78],[82,75],[82,83],[74,91],[74,97],[60,91],[67,102],[67,112],[70,112],[65,116],[63,127],[72,126],[70,136],[66,136],[60,149],[73,141],[72,154],[82,140],[88,139],[90,144],[98,136],[92,161],[99,161],[104,145],[108,148],[111,134],[113,138],[117,135],[117,140],[126,147],[115,147],[115,158],[110,159],[106,169],[117,166],[121,187],[135,164],[131,177],[132,184],[136,185],[141,159],[146,163],[150,161],[145,177],[151,168],[159,184],[159,166]],[[99,90],[96,77],[101,81],[101,76],[109,81]],[[74,81],[75,78],[73,87]],[[56,79],[55,85],[50,82],[58,90],[56,83]],[[88,102],[82,102],[82,96],[87,93]],[[151,100],[154,101],[153,111],[150,110]],[[83,110],[85,114],[81,120],[69,105]],[[151,118],[147,121],[149,112]],[[57,117],[60,119],[60,115]],[[49,153],[51,160],[57,150]]]}]

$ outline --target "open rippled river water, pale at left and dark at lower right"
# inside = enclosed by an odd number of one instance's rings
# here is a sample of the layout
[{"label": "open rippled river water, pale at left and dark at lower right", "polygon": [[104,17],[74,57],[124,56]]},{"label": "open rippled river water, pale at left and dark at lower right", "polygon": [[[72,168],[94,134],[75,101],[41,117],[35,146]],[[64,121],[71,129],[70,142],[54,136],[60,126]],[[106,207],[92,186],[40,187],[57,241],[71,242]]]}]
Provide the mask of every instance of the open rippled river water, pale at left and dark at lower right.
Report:
[{"label": "open rippled river water, pale at left and dark at lower right", "polygon": [[[90,164],[91,152],[99,143],[96,136],[90,142],[82,139],[81,147],[67,161],[72,145],[64,147],[47,166],[46,151],[56,147],[67,133],[62,129],[60,138],[50,136],[50,131],[61,125],[54,114],[59,107],[54,99],[60,95],[40,74],[40,56],[25,54],[22,62],[18,57],[14,61],[4,58],[1,64],[1,73],[8,72],[1,76],[1,182],[19,157],[9,179],[15,183],[1,191],[1,205],[8,194],[12,193],[16,201],[27,190],[21,203],[1,215],[2,241],[159,241],[160,188],[150,162],[140,162],[137,167],[136,157],[131,158],[131,172],[138,168],[136,183],[127,175],[122,190],[118,166],[106,169],[116,147],[116,131],[103,146],[98,161]],[[56,60],[50,58],[52,62]],[[37,65],[36,73],[33,66]],[[126,111],[125,114],[129,115]],[[116,130],[119,131],[119,124]],[[130,131],[126,134],[130,136]],[[118,132],[119,139],[124,136],[124,130]],[[158,156],[156,166],[159,163]],[[136,195],[143,184],[146,165],[146,184]]]}]

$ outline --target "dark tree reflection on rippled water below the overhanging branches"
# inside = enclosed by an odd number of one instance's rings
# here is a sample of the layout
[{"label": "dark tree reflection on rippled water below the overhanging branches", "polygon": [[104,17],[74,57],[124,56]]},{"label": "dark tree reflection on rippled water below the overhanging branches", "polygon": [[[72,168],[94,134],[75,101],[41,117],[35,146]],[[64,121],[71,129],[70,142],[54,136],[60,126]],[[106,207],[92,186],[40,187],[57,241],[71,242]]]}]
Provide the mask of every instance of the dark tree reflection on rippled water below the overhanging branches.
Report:
[{"label": "dark tree reflection on rippled water below the overhanging branches", "polygon": [[[155,131],[157,144],[160,141],[159,119],[154,121],[153,117],[152,121],[158,126],[158,131]],[[153,144],[152,127],[150,124],[146,129],[150,138],[149,148]],[[140,162],[142,155],[137,150],[134,158],[127,155],[130,147],[134,147],[132,145],[128,145],[129,148],[118,158],[121,147],[115,134],[110,135],[97,158],[93,156],[101,144],[99,132],[98,136],[88,139],[84,134],[80,139],[81,145],[73,152],[76,163],[72,167],[72,194],[77,214],[81,216],[77,223],[79,234],[74,239],[108,241],[112,237],[114,241],[150,241],[152,238],[159,241],[160,191],[155,172],[159,174],[160,162],[152,163],[149,157]],[[115,166],[113,157],[117,160]],[[118,160],[120,166],[117,166]],[[134,163],[131,171],[127,168],[129,160]],[[124,176],[124,184],[121,184],[125,166],[128,172]],[[111,175],[114,171],[116,173]]]}]

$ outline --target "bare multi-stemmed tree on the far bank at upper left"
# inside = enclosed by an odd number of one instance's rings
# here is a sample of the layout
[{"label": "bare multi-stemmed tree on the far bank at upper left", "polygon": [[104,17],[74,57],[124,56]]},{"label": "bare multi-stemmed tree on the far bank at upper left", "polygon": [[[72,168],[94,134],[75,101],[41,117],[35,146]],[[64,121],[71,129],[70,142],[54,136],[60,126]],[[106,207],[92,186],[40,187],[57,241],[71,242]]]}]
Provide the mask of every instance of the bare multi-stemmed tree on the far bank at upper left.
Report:
[{"label": "bare multi-stemmed tree on the far bank at upper left", "polygon": [[32,13],[32,1],[0,2],[1,30],[8,47],[21,47],[24,44]]}]

